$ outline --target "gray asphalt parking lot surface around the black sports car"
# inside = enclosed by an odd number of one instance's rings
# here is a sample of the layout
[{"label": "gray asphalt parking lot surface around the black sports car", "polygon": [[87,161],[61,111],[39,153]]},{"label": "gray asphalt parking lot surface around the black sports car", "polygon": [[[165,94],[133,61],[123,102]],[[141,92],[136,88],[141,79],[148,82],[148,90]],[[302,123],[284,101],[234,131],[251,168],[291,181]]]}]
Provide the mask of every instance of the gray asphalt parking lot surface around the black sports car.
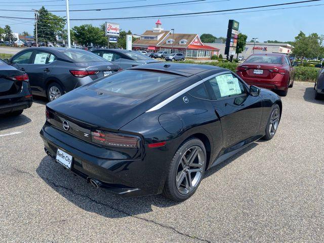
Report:
[{"label": "gray asphalt parking lot surface around the black sports car", "polygon": [[[275,137],[207,172],[176,204],[122,198],[54,163],[39,137],[45,101],[0,118],[3,242],[323,242],[324,101],[311,84],[282,98]],[[235,129],[235,128],[233,128]]]}]

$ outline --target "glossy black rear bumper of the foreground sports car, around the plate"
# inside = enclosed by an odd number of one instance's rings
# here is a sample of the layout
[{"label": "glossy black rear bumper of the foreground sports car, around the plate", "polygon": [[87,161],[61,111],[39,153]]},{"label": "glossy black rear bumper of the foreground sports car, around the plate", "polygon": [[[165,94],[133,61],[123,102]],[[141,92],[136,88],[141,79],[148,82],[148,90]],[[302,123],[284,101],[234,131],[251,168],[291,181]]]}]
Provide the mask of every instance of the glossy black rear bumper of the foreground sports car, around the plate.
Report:
[{"label": "glossy black rear bumper of the foreground sports car, around the plate", "polygon": [[[71,172],[86,179],[87,182],[93,179],[98,182],[99,187],[122,196],[158,194],[163,190],[165,173],[157,174],[156,168],[159,167],[157,164],[160,165],[164,161],[164,156],[159,155],[160,161],[149,161],[149,154],[136,160],[105,159],[72,147],[71,141],[77,138],[53,127],[44,125],[40,135],[46,153],[55,159],[57,149],[60,148],[71,155],[73,157]],[[60,137],[61,135],[64,137]],[[87,142],[84,142],[84,145],[87,146]]]}]

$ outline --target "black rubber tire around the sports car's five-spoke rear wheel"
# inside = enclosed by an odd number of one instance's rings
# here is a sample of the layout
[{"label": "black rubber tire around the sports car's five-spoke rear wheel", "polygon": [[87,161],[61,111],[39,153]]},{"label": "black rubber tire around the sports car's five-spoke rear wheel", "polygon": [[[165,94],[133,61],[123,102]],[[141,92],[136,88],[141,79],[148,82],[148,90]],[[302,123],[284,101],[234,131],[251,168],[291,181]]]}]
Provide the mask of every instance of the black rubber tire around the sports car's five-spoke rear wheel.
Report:
[{"label": "black rubber tire around the sports car's five-spoke rear wheel", "polygon": [[[191,148],[197,148],[199,149],[199,154],[201,156],[204,156],[204,165],[200,167],[200,169],[202,169],[202,171],[200,171],[200,174],[195,174],[195,176],[200,176],[200,178],[198,178],[196,180],[196,184],[194,187],[192,187],[190,189],[190,191],[188,191],[187,194],[182,194],[179,192],[177,186],[176,186],[176,177],[177,174],[179,175],[179,173],[183,173],[185,171],[185,169],[183,171],[178,171],[179,170],[179,166],[180,166],[180,160],[182,159],[182,157],[185,155],[184,153],[186,153],[187,151],[189,151]],[[195,156],[195,159],[193,161],[196,161],[196,158],[198,157],[199,159],[199,155]],[[186,141],[184,141],[179,149],[177,150],[177,152],[175,153],[175,155],[173,156],[173,159],[171,160],[168,172],[167,172],[167,179],[166,179],[166,183],[163,189],[163,194],[164,196],[166,196],[167,198],[174,200],[174,201],[184,201],[186,199],[188,199],[190,196],[192,196],[194,194],[194,192],[196,191],[196,189],[198,188],[201,179],[203,179],[204,174],[205,174],[205,169],[206,169],[206,161],[207,161],[207,155],[206,155],[206,148],[204,146],[204,143],[201,142],[199,139],[196,138],[191,138],[188,139]],[[188,168],[188,171],[190,171],[190,167]],[[195,172],[193,172],[195,173]],[[198,172],[196,172],[198,173]],[[188,172],[187,174],[184,172],[185,177],[184,179],[186,179],[186,181],[188,182]],[[191,174],[191,173],[190,173]],[[194,178],[195,178],[194,176]],[[190,178],[192,178],[190,176]],[[192,180],[192,182],[195,179]],[[181,182],[181,181],[180,181]],[[191,183],[192,184],[192,183]],[[185,189],[185,188],[184,188]]]}]

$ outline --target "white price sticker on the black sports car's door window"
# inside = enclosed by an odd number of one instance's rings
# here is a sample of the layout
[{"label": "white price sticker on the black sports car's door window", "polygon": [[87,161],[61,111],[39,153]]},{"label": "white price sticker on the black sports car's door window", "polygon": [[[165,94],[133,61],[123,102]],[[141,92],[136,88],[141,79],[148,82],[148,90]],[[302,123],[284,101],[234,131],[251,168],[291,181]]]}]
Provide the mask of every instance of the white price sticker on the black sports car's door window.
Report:
[{"label": "white price sticker on the black sports car's door window", "polygon": [[224,74],[216,77],[221,97],[241,94],[238,79],[232,74]]}]

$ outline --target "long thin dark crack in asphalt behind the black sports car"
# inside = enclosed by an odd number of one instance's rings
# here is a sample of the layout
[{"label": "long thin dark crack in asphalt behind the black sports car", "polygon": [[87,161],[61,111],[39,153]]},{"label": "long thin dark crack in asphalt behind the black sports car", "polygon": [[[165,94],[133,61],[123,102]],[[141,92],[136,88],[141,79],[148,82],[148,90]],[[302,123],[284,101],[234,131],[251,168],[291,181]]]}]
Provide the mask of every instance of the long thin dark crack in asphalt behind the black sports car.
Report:
[{"label": "long thin dark crack in asphalt behind the black sports car", "polygon": [[[14,168],[14,167],[13,167]],[[17,169],[17,168],[14,168],[15,170],[17,170],[19,173],[22,173],[22,174],[26,174],[26,175],[29,175],[33,178],[36,178],[33,174],[29,173],[29,172],[25,172],[25,171],[22,171],[20,169]],[[85,197],[85,198],[88,198],[90,201],[92,201],[93,203],[95,204],[98,204],[98,205],[102,205],[104,207],[107,207],[107,208],[110,208],[112,210],[115,210],[117,211],[118,213],[121,213],[121,214],[124,214],[124,215],[127,215],[127,216],[130,216],[132,218],[136,218],[136,219],[140,219],[140,220],[144,220],[146,222],[149,222],[149,223],[153,223],[155,225],[158,225],[158,226],[161,226],[163,228],[166,228],[166,229],[171,229],[173,232],[177,233],[177,234],[181,234],[183,236],[186,236],[186,237],[189,237],[191,239],[198,239],[200,241],[203,241],[203,242],[207,242],[207,243],[211,243],[210,240],[207,240],[207,239],[203,239],[203,238],[199,238],[199,237],[196,237],[196,236],[192,236],[192,235],[189,235],[189,234],[186,234],[186,233],[183,233],[183,232],[180,232],[179,230],[177,230],[176,228],[172,227],[172,226],[168,226],[168,225],[165,225],[165,224],[162,224],[162,223],[159,223],[159,222],[156,222],[154,220],[151,220],[151,219],[146,219],[146,218],[143,218],[143,217],[140,217],[140,216],[136,216],[136,215],[132,215],[130,213],[127,213],[126,211],[124,210],[120,210],[120,209],[117,209],[117,208],[114,208],[110,205],[107,205],[107,204],[104,204],[104,203],[101,203],[100,201],[96,200],[96,199],[93,199],[91,198],[90,196],[88,195],[84,195],[84,194],[81,194],[81,193],[78,193],[78,192],[75,192],[74,190],[72,190],[71,188],[68,188],[68,187],[65,187],[65,186],[62,186],[62,185],[58,185],[56,184],[55,182],[52,182],[50,181],[48,178],[46,177],[41,177],[39,176],[40,178],[42,178],[44,181],[46,181],[47,183],[53,185],[54,187],[56,188],[62,188],[62,189],[65,189],[75,195],[78,195],[78,196],[82,196],[82,197]]]}]

